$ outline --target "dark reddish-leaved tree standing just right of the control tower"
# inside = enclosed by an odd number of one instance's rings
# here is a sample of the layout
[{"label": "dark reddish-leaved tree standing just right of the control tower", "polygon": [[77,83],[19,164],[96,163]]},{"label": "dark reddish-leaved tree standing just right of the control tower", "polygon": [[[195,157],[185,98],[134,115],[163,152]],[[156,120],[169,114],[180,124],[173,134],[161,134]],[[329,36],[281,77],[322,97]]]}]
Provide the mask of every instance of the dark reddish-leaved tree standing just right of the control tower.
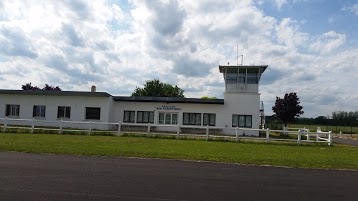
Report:
[{"label": "dark reddish-leaved tree standing just right of the control tower", "polygon": [[285,127],[292,122],[296,117],[299,117],[304,112],[303,107],[300,106],[297,94],[286,93],[284,98],[276,97],[275,106],[272,107],[273,112],[283,122]]}]

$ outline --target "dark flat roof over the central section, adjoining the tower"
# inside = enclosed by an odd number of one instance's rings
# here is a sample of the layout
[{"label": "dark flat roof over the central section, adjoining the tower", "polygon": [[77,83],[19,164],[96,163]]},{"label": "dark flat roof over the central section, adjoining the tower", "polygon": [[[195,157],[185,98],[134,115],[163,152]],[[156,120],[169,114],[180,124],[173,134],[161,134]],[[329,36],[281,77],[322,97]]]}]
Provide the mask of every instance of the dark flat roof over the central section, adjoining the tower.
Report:
[{"label": "dark flat roof over the central section, adjoining the tower", "polygon": [[224,104],[224,99],[200,99],[200,98],[176,98],[176,97],[113,96],[113,100],[128,101],[128,102]]}]

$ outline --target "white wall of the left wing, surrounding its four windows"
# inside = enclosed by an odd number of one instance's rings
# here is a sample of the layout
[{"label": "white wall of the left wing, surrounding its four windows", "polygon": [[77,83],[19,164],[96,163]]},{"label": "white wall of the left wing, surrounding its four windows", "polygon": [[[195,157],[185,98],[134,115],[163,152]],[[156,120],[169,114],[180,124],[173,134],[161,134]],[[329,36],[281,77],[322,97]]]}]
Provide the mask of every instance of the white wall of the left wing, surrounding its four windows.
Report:
[{"label": "white wall of the left wing, surrounding its four windows", "polygon": [[[31,92],[26,94],[6,94],[6,91],[2,91],[3,93],[5,92],[5,94],[0,93],[0,117],[46,120],[37,121],[38,126],[57,126],[58,123],[56,123],[56,121],[60,120],[110,122],[109,111],[111,110],[112,100],[108,97],[86,97],[84,95],[64,96],[63,94],[67,92],[61,92],[61,95],[56,93],[31,95]],[[19,114],[7,115],[7,105],[18,105]],[[34,106],[45,107],[44,117],[34,116]],[[70,107],[70,118],[58,118],[59,107]],[[86,107],[100,108],[100,119],[86,119]],[[12,124],[21,125],[24,124],[24,122],[18,121],[12,122]],[[82,126],[71,125],[71,127],[81,128]],[[104,126],[101,126],[101,128],[107,129]]]}]

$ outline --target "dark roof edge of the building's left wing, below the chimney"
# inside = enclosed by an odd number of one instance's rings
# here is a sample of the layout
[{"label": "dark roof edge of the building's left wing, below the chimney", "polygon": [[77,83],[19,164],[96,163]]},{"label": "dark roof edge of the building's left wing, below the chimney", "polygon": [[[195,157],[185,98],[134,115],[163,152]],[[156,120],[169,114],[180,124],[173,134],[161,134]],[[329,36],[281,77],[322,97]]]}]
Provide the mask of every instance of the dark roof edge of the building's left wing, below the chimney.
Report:
[{"label": "dark roof edge of the building's left wing, below the chimney", "polygon": [[54,91],[54,90],[7,90],[7,89],[0,89],[0,94],[111,97],[111,95],[109,93],[107,93],[107,92]]}]

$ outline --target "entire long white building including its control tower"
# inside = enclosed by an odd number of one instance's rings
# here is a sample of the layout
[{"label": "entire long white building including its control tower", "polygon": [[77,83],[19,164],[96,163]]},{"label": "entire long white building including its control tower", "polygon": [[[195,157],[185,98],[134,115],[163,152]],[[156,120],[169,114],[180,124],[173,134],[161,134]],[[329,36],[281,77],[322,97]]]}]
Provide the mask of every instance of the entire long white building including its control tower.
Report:
[{"label": "entire long white building including its control tower", "polygon": [[[95,88],[91,92],[0,90],[0,118],[46,120],[43,126],[58,125],[60,120],[150,123],[153,129],[168,131],[176,128],[159,125],[180,125],[182,129],[191,125],[205,129],[209,125],[216,127],[218,133],[233,134],[234,130],[226,128],[259,128],[259,81],[266,68],[267,65],[219,66],[225,80],[224,99],[212,100],[112,96],[96,92]],[[115,129],[99,124],[95,128]],[[187,128],[187,132],[193,131]],[[258,132],[246,134],[258,135]]]}]

